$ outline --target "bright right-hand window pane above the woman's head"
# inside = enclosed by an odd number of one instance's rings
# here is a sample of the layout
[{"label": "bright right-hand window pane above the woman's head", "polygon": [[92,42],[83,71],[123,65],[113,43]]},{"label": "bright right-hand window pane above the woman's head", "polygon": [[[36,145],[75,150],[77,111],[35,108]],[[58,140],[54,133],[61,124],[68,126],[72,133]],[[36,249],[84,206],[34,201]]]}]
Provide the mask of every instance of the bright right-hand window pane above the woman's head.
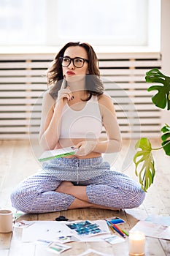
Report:
[{"label": "bright right-hand window pane above the woman's head", "polygon": [[61,40],[80,38],[101,45],[147,43],[147,0],[86,0],[82,6],[80,2],[58,1]]}]

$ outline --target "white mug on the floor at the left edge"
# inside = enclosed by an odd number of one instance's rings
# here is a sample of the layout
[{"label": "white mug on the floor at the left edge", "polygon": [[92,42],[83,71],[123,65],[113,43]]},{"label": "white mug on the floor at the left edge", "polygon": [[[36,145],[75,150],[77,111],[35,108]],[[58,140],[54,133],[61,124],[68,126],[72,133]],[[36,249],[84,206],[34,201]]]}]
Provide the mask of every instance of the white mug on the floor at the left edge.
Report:
[{"label": "white mug on the floor at the left edge", "polygon": [[0,210],[0,233],[12,232],[12,211]]}]

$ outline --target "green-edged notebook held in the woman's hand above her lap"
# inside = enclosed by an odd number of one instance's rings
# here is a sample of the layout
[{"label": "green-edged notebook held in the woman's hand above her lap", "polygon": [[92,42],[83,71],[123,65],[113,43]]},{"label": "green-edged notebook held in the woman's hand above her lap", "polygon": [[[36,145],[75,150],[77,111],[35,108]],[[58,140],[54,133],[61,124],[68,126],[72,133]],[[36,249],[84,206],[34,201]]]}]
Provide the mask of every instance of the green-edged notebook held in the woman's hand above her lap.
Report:
[{"label": "green-edged notebook held in the woman's hand above her lap", "polygon": [[39,162],[43,162],[53,158],[74,155],[76,151],[77,151],[77,148],[74,149],[72,147],[47,150],[42,153],[42,155],[38,158],[38,160]]}]

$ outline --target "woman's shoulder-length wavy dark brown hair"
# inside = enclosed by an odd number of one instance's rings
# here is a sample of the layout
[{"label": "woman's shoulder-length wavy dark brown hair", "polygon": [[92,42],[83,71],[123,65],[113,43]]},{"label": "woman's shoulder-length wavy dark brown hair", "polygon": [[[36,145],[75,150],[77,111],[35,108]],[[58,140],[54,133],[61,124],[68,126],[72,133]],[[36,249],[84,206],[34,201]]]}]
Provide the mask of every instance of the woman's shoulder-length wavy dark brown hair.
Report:
[{"label": "woman's shoulder-length wavy dark brown hair", "polygon": [[85,77],[85,89],[89,94],[87,100],[92,95],[101,95],[104,92],[104,85],[100,79],[100,72],[98,68],[98,58],[92,46],[87,42],[68,42],[56,54],[49,69],[47,69],[47,85],[50,86],[50,95],[56,99],[58,91],[61,89],[63,81],[63,70],[61,66],[60,57],[63,57],[65,50],[71,46],[80,46],[88,53],[88,71],[89,74]]}]

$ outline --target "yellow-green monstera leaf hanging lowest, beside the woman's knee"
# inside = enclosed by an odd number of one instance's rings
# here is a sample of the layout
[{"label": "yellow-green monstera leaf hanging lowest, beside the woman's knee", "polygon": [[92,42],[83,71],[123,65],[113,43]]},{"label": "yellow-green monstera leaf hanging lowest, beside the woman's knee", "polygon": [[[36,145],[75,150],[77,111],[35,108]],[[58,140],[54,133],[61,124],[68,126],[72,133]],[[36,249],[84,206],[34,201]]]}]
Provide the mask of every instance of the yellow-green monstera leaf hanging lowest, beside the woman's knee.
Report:
[{"label": "yellow-green monstera leaf hanging lowest, beside the woman's knee", "polygon": [[147,189],[153,183],[155,176],[154,159],[152,157],[152,147],[150,140],[141,138],[137,141],[135,149],[139,151],[134,155],[134,163],[136,165],[135,173],[139,176],[139,183],[142,189],[147,192]]}]

